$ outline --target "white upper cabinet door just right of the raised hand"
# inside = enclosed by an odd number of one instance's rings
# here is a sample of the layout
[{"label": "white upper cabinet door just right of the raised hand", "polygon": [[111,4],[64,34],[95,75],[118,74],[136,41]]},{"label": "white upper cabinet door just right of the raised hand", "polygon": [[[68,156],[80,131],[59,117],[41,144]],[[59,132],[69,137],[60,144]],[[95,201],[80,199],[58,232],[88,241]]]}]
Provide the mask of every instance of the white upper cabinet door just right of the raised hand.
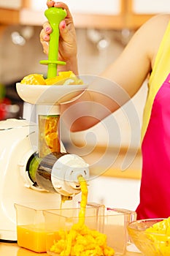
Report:
[{"label": "white upper cabinet door just right of the raised hand", "polygon": [[66,0],[77,27],[96,29],[122,29],[124,24],[123,0]]}]

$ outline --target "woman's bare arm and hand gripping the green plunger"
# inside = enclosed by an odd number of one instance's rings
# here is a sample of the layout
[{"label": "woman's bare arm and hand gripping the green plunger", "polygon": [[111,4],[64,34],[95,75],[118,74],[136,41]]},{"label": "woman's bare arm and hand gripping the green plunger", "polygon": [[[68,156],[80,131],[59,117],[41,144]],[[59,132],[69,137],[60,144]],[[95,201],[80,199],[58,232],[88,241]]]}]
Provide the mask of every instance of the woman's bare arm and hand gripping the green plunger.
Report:
[{"label": "woman's bare arm and hand gripping the green plunger", "polygon": [[[74,23],[69,8],[61,3],[59,6],[64,7],[69,13],[71,27],[67,27],[66,34],[62,34],[61,28],[61,42],[66,42],[65,47],[68,46],[67,42],[72,45],[71,52],[67,51],[69,54],[64,58],[74,72],[74,65],[77,67]],[[155,56],[168,23],[169,15],[158,15],[144,23],[131,38],[123,53],[100,77],[89,83],[88,90],[79,99],[61,105],[64,121],[72,132],[93,127],[136,94],[147,75],[152,72]],[[42,37],[45,34],[45,31],[42,32]],[[64,53],[62,50],[63,47],[60,48],[61,56]]]}]

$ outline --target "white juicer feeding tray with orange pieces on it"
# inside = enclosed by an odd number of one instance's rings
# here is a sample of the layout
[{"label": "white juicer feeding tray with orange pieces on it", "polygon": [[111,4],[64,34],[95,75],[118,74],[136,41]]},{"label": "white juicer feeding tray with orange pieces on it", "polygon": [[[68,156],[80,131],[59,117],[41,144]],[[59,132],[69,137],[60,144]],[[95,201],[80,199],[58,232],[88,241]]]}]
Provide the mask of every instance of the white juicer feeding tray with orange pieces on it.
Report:
[{"label": "white juicer feeding tray with orange pieces on it", "polygon": [[58,72],[54,78],[46,79],[42,74],[30,74],[16,84],[20,98],[36,105],[70,102],[80,97],[87,88],[88,85],[72,71]]}]

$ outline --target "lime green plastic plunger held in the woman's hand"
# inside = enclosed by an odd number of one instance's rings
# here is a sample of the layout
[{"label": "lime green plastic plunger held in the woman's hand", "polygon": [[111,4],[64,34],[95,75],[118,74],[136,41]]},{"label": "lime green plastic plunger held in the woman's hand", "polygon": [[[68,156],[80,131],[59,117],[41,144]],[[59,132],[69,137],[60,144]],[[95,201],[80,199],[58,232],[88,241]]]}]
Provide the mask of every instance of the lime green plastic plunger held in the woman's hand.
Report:
[{"label": "lime green plastic plunger held in the woman's hand", "polygon": [[50,23],[53,31],[50,34],[48,60],[39,61],[41,64],[47,64],[47,78],[54,78],[57,75],[57,66],[65,65],[66,62],[58,61],[58,42],[59,42],[59,24],[66,18],[66,10],[58,7],[50,7],[45,11],[45,16]]}]

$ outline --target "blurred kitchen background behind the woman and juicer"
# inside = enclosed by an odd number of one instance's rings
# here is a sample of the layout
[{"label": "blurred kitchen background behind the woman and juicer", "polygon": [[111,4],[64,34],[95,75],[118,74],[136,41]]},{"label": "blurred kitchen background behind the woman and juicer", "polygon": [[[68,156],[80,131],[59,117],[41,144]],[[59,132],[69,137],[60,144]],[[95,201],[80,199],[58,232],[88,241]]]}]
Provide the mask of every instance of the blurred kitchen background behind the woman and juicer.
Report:
[{"label": "blurred kitchen background behind the woman and juicer", "polygon": [[[157,13],[170,12],[169,0],[66,0],[74,18],[77,30],[78,61],[81,75],[100,75],[100,73],[120,55],[125,45],[128,43],[136,29],[146,20]],[[39,32],[42,23],[45,22],[44,11],[46,0],[0,0],[0,119],[20,118],[23,115],[23,102],[18,97],[15,90],[15,83],[20,81],[25,75],[31,73],[47,72],[47,67],[39,64],[39,60],[45,59],[42,52],[42,45],[39,42]],[[147,95],[147,81],[140,91],[135,95],[134,108],[139,116],[139,124],[142,123],[142,113]],[[139,147],[139,129],[131,131],[131,126],[122,110],[113,114],[120,129],[122,155],[131,143],[136,154],[134,166],[126,173],[116,174],[110,187],[115,187],[117,193],[126,188],[123,196],[135,197],[133,205],[127,203],[128,198],[124,197],[114,206],[134,208],[139,198],[134,190],[139,191],[139,181],[141,176],[141,155]],[[112,116],[107,118],[107,125],[111,123]],[[98,146],[106,146],[108,143],[108,132],[105,124],[98,124],[88,130],[96,137]],[[87,132],[77,132],[72,135],[72,139],[77,144],[85,143]],[[131,137],[133,140],[131,141]],[[120,146],[114,140],[113,148]],[[120,148],[120,151],[121,151]],[[136,153],[137,152],[137,153]],[[134,153],[133,153],[134,154]],[[132,165],[131,165],[132,166]],[[110,181],[111,173],[104,178]],[[119,178],[121,186],[117,188]],[[128,178],[128,184],[126,184]],[[129,181],[131,180],[131,184]],[[98,179],[99,186],[104,184]],[[101,182],[101,184],[100,184]],[[115,182],[115,183],[114,183]],[[124,182],[124,183],[123,183]],[[93,187],[95,188],[95,184]],[[98,185],[97,185],[98,186]],[[109,186],[100,189],[96,195],[101,203],[111,206],[109,200]],[[108,191],[107,191],[108,189]],[[113,192],[111,192],[112,194]],[[94,194],[93,194],[94,196]],[[93,197],[91,198],[93,200]]]}]

